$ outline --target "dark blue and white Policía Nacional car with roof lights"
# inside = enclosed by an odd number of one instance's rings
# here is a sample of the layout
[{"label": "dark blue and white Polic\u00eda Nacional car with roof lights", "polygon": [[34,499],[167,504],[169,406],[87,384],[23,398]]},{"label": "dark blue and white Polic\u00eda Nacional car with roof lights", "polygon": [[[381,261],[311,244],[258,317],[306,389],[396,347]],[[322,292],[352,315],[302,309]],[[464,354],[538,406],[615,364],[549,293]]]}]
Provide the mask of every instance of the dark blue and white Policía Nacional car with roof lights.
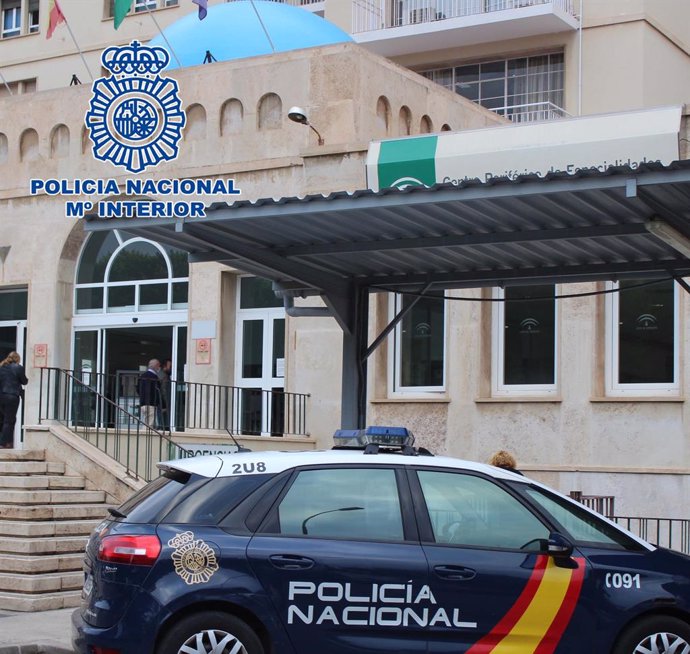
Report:
[{"label": "dark blue and white Polic\u00eda Nacional car with roof lights", "polygon": [[80,654],[690,654],[690,558],[402,428],[170,461],[93,533]]}]

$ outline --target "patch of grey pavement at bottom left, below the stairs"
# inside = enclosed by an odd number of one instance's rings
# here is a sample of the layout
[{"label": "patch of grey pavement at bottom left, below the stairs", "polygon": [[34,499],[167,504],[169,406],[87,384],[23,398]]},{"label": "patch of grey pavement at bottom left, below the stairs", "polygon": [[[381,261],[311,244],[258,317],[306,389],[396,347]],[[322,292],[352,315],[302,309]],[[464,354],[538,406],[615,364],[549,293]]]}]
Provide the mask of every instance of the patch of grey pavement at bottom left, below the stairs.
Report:
[{"label": "patch of grey pavement at bottom left, below the stairs", "polygon": [[72,654],[73,611],[0,611],[0,654]]}]

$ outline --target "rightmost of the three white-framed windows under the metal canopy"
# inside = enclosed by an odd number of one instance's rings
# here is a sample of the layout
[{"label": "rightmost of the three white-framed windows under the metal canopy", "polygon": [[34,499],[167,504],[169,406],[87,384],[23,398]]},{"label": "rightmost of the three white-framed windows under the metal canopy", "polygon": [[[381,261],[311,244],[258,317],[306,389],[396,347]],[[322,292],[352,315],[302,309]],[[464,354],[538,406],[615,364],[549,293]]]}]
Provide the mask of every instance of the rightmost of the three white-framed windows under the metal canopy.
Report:
[{"label": "rightmost of the three white-framed windows under the metal canopy", "polygon": [[608,283],[606,392],[675,395],[679,392],[679,293],[672,280]]}]

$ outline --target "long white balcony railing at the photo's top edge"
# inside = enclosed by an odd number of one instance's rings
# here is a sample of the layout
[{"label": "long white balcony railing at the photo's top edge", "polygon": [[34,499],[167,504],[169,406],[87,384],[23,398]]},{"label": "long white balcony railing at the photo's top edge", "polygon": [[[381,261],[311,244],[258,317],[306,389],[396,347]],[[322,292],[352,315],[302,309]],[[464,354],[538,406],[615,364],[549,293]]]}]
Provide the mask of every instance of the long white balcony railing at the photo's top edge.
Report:
[{"label": "long white balcony railing at the photo's top edge", "polygon": [[354,0],[352,33],[538,5],[552,5],[554,9],[576,16],[574,0]]}]

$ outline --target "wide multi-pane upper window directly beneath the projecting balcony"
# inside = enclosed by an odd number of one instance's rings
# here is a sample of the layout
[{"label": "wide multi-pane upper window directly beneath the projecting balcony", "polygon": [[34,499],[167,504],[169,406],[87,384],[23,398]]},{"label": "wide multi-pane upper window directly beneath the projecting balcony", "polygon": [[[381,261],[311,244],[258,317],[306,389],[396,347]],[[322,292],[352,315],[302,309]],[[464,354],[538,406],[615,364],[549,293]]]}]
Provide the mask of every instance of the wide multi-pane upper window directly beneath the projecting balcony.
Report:
[{"label": "wide multi-pane upper window directly beneath the projecting balcony", "polygon": [[565,115],[562,52],[437,68],[422,75],[514,122]]}]

